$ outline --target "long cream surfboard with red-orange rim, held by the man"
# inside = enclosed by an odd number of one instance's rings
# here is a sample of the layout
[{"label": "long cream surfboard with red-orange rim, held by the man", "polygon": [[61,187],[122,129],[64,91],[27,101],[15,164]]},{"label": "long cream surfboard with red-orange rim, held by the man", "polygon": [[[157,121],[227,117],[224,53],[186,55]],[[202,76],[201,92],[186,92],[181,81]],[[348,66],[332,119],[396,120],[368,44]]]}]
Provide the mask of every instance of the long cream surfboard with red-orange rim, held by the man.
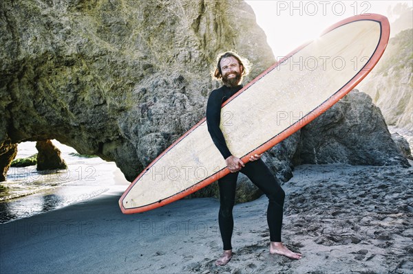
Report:
[{"label": "long cream surfboard with red-orange rim, held by the man", "polygon": [[[247,163],[324,113],[373,69],[389,35],[385,16],[352,16],[278,60],[222,104],[220,128],[231,153]],[[155,209],[226,174],[204,118],[142,170],[120,209]]]}]

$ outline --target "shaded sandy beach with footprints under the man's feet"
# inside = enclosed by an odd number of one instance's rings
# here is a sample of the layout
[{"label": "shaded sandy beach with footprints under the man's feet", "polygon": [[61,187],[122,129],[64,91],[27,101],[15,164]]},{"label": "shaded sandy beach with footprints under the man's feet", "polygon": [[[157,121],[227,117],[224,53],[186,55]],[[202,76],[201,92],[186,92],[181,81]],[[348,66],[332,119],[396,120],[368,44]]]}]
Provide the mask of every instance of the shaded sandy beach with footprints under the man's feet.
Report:
[{"label": "shaded sandy beach with footprints under the man's feet", "polygon": [[282,187],[283,241],[299,261],[268,253],[265,196],[235,205],[235,255],[219,267],[217,199],[124,215],[112,191],[0,225],[0,273],[413,273],[412,175],[298,166]]}]

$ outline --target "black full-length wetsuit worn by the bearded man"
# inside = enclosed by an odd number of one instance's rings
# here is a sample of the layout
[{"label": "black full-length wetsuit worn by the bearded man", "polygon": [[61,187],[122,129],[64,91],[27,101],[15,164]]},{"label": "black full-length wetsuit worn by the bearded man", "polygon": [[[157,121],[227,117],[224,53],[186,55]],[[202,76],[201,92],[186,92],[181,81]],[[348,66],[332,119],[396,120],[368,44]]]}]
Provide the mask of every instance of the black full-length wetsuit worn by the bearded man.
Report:
[{"label": "black full-length wetsuit worn by the bearded man", "polygon": [[[209,134],[220,150],[224,159],[231,156],[226,146],[224,135],[220,129],[221,105],[233,94],[242,89],[242,86],[229,88],[226,86],[215,89],[209,95],[207,104],[207,124]],[[240,156],[240,155],[238,155]],[[246,163],[240,170],[268,197],[267,222],[270,229],[271,242],[281,242],[281,227],[284,207],[284,190],[279,186],[277,179],[267,168],[265,163],[259,159]],[[235,188],[237,186],[238,172],[230,173],[218,180],[220,186],[220,213],[218,222],[224,250],[232,249],[231,237],[233,233],[233,206],[235,202]]]}]

